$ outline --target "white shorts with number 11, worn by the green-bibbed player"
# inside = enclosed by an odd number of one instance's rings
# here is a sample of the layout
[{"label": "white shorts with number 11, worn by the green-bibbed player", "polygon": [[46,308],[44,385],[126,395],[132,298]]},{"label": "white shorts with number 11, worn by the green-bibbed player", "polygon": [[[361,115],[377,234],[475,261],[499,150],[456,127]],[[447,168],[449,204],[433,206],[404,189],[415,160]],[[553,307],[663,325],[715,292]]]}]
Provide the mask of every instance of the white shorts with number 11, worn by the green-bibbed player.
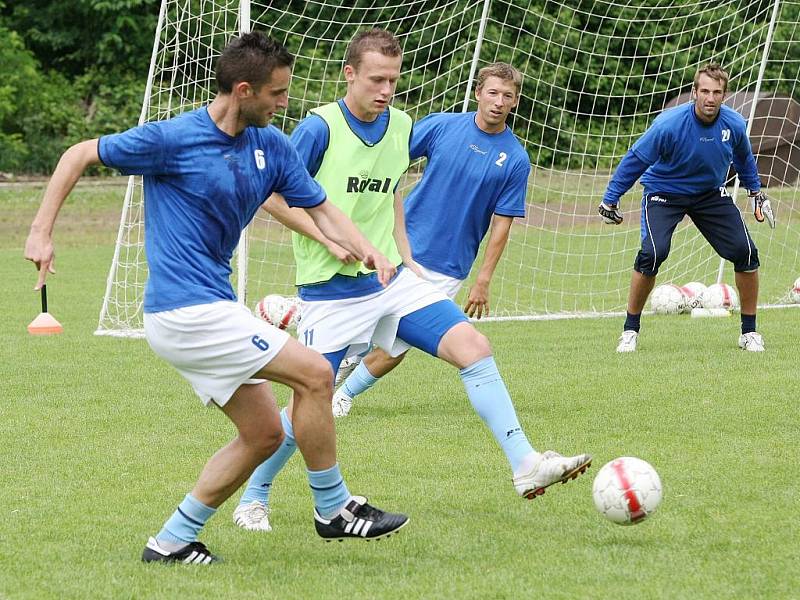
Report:
[{"label": "white shorts with number 11, worn by the green-bibbed player", "polygon": [[389,287],[374,294],[337,300],[301,300],[297,338],[320,354],[349,347],[346,356],[351,356],[373,343],[398,356],[410,348],[397,339],[401,317],[442,300],[448,300],[444,292],[411,269],[403,269]]}]

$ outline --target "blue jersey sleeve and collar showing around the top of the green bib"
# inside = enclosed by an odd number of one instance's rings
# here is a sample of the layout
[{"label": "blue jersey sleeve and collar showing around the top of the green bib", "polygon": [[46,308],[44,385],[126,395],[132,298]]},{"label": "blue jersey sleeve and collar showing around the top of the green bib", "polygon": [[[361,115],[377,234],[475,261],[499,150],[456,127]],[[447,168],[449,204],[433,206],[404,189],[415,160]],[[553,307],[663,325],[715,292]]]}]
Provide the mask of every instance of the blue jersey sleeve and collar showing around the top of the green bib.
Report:
[{"label": "blue jersey sleeve and collar showing around the top of the green bib", "polygon": [[[342,113],[358,137],[368,146],[378,143],[389,127],[389,111],[385,110],[374,121],[362,121],[350,112],[344,100],[339,100]],[[291,135],[292,143],[311,176],[315,176],[322,165],[322,158],[328,149],[330,132],[325,120],[314,113],[298,123]]]}]

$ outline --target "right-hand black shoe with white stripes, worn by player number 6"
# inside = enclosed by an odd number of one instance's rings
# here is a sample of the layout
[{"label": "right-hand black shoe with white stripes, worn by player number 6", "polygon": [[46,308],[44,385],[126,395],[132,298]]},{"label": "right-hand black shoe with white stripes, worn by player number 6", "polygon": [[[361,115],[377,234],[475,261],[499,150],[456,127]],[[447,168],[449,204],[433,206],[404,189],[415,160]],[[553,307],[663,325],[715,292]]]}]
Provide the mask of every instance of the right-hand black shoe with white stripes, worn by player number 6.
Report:
[{"label": "right-hand black shoe with white stripes, worn by player number 6", "polygon": [[323,519],[314,511],[314,526],[320,537],[326,542],[359,538],[377,540],[389,537],[408,523],[408,517],[396,513],[387,513],[367,504],[363,496],[353,496],[332,519]]}]

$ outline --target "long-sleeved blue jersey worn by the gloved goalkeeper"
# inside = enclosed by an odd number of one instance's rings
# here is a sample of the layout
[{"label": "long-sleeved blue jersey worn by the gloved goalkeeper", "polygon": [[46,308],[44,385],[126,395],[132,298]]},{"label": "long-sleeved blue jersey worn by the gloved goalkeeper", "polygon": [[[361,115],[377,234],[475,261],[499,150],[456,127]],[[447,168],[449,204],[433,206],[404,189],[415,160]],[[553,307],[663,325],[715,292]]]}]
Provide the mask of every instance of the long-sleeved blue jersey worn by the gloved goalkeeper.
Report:
[{"label": "long-sleeved blue jersey worn by the gloved goalkeeper", "polygon": [[603,199],[616,204],[636,179],[645,193],[707,194],[725,185],[731,163],[747,189],[761,189],[744,117],[723,105],[706,124],[697,118],[694,103],[682,104],[656,117],[634,143]]}]

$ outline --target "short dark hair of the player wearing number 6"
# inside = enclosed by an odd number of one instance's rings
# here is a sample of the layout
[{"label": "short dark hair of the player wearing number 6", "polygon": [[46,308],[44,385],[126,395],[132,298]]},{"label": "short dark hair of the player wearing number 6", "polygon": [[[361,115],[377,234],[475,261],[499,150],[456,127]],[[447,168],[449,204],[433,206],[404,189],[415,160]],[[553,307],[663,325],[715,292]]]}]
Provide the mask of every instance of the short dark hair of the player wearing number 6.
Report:
[{"label": "short dark hair of the player wearing number 6", "polygon": [[261,87],[280,67],[291,68],[294,57],[281,44],[259,31],[231,40],[217,59],[214,75],[221,94],[230,94],[236,82]]}]

